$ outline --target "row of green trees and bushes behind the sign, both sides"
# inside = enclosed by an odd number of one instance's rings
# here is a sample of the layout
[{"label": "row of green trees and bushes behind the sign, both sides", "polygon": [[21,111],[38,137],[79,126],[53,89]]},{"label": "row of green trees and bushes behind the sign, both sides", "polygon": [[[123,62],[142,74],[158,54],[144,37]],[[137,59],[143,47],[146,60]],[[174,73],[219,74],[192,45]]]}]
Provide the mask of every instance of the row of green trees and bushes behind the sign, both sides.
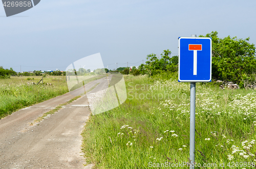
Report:
[{"label": "row of green trees and bushes behind the sign, both sides", "polygon": [[[219,38],[217,31],[199,37],[210,37],[212,40],[212,80],[232,81],[240,87],[255,85],[255,45],[249,43],[249,37],[246,39],[230,36]],[[147,55],[147,61],[138,69],[129,71],[126,68],[120,72],[124,75],[147,74],[148,76],[177,72],[179,57],[169,57],[170,54],[169,50],[164,50],[160,58],[156,54]]]}]

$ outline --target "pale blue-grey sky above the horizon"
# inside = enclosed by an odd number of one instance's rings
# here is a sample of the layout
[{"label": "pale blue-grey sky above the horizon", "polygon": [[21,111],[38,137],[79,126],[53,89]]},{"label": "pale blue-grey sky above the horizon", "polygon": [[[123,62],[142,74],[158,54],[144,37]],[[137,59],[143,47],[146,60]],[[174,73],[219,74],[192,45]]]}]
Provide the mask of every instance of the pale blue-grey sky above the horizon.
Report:
[{"label": "pale blue-grey sky above the horizon", "polygon": [[41,0],[12,17],[0,6],[0,65],[65,70],[100,53],[110,69],[116,62],[138,66],[151,53],[169,49],[178,55],[179,36],[211,31],[256,44],[255,6],[256,1]]}]

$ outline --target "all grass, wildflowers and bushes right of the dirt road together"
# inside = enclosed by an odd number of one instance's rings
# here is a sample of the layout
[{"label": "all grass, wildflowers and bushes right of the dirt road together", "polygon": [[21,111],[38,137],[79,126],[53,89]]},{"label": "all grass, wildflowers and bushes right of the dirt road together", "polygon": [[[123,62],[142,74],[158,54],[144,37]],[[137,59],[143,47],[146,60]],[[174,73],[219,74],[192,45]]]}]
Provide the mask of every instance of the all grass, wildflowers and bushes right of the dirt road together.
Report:
[{"label": "all grass, wildflowers and bushes right of the dirt road together", "polygon": [[[249,38],[217,35],[200,35],[212,38],[212,82],[197,83],[196,88],[196,168],[252,168],[255,46]],[[178,57],[170,53],[164,50],[160,58],[150,54],[138,69],[122,69],[127,100],[90,116],[82,150],[95,168],[188,167],[190,87],[178,82]],[[240,89],[219,87],[227,82]],[[182,167],[172,166],[177,163]]]}]

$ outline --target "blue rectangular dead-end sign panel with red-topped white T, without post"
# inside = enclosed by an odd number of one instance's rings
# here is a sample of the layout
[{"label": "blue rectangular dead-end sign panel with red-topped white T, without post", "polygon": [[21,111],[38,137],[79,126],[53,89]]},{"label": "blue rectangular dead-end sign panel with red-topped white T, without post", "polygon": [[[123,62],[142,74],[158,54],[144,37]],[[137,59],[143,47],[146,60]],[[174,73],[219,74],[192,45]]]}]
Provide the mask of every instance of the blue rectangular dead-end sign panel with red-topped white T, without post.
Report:
[{"label": "blue rectangular dead-end sign panel with red-topped white T, without post", "polygon": [[211,81],[211,38],[179,38],[179,82]]}]

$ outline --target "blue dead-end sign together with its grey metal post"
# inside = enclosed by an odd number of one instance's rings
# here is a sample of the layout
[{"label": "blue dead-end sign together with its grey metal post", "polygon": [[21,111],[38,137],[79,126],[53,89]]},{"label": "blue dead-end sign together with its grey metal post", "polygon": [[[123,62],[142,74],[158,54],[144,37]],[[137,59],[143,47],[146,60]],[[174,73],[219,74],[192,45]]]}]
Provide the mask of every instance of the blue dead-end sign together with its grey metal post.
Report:
[{"label": "blue dead-end sign together with its grey metal post", "polygon": [[195,168],[196,82],[211,81],[211,38],[179,37],[179,82],[190,82],[190,169]]}]

